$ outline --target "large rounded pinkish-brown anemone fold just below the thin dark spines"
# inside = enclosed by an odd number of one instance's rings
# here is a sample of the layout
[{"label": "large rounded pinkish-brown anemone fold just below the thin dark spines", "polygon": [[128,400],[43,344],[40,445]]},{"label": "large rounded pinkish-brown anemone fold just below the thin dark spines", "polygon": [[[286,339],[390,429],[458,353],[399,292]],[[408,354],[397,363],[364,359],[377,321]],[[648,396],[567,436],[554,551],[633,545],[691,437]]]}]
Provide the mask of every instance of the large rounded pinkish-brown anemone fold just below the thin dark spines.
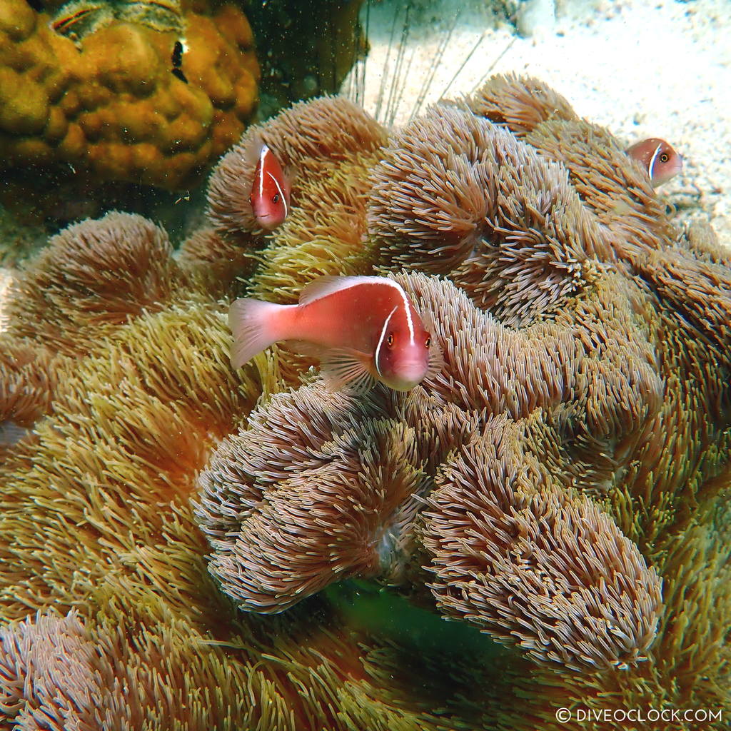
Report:
[{"label": "large rounded pinkish-brown anemone fold just below the thin dark spines", "polygon": [[564,167],[467,110],[433,108],[395,135],[373,181],[385,262],[448,274],[504,322],[556,311],[585,286],[586,260],[613,259]]}]

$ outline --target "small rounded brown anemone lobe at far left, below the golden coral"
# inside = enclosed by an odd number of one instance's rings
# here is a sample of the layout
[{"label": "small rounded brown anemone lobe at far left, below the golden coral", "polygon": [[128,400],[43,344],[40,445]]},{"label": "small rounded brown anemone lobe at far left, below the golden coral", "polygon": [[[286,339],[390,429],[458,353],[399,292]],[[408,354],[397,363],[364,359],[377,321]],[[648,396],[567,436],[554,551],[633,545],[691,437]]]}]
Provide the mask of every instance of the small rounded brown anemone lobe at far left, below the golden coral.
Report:
[{"label": "small rounded brown anemone lobe at far left, below the golden coral", "polygon": [[54,236],[13,284],[14,336],[60,352],[91,342],[170,297],[177,267],[167,234],[142,216],[107,213]]}]

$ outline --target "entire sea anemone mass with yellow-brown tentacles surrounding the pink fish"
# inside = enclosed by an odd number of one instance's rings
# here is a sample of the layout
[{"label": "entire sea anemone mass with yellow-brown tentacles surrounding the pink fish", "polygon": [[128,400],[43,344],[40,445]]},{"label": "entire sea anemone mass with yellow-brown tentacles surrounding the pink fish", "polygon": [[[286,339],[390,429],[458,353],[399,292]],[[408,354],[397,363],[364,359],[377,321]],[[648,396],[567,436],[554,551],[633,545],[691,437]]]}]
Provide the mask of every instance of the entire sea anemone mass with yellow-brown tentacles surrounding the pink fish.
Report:
[{"label": "entire sea anemone mass with yellow-brown tentacles surrounding the pink fish", "polygon": [[[262,139],[294,172],[273,235],[246,208]],[[390,139],[316,99],[246,132],[209,204],[177,259],[110,213],[12,292],[0,417],[23,390],[34,431],[0,447],[0,728],[731,710],[730,262],[609,132],[529,78]],[[422,385],[330,393],[286,344],[231,371],[236,277],[290,303],[374,270],[442,350]],[[359,629],[320,591],[349,576],[505,647]]]}]

